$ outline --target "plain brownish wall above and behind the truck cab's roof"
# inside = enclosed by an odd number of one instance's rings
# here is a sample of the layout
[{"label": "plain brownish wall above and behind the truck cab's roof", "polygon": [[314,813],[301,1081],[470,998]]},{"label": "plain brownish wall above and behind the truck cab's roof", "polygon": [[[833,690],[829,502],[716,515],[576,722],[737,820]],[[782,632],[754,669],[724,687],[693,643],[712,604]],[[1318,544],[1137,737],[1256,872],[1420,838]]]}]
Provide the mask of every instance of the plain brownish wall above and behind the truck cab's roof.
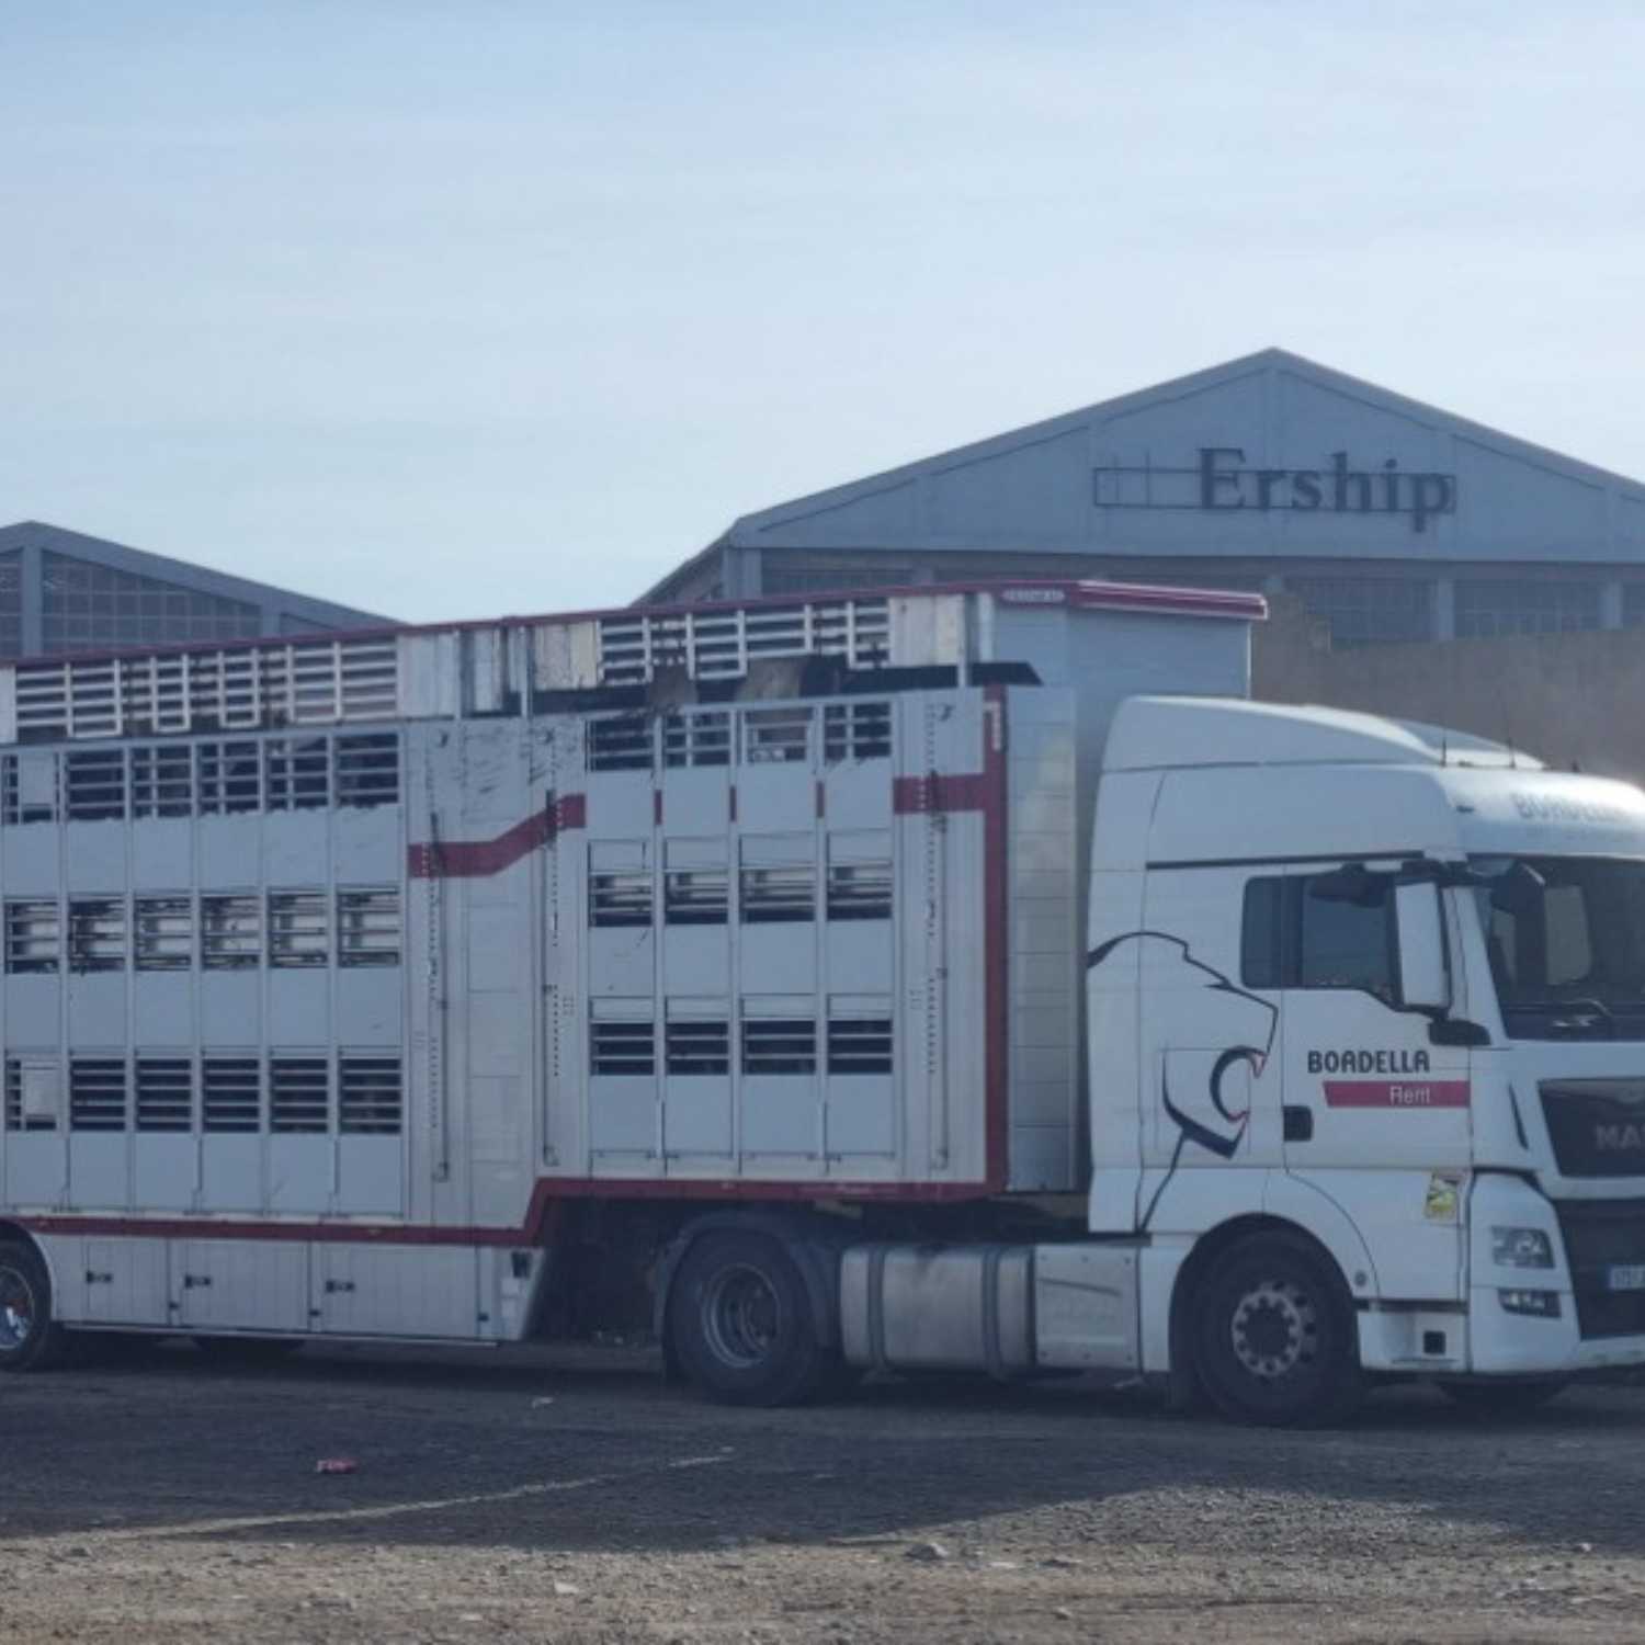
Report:
[{"label": "plain brownish wall above and behind the truck cab's roof", "polygon": [[1508,742],[1550,765],[1645,785],[1645,632],[1523,635],[1332,651],[1278,600],[1257,630],[1252,684],[1270,702],[1420,719]]}]

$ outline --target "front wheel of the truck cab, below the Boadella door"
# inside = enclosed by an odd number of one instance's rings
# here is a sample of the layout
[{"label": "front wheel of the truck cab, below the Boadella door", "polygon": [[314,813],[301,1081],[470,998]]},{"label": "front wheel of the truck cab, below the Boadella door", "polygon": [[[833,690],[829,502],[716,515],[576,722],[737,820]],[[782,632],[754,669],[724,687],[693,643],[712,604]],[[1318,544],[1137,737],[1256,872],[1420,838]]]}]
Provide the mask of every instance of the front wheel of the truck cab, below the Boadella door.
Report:
[{"label": "front wheel of the truck cab, below the Boadella door", "polygon": [[1311,1239],[1242,1239],[1216,1258],[1191,1306],[1194,1369],[1224,1416],[1318,1428],[1364,1395],[1354,1303]]}]

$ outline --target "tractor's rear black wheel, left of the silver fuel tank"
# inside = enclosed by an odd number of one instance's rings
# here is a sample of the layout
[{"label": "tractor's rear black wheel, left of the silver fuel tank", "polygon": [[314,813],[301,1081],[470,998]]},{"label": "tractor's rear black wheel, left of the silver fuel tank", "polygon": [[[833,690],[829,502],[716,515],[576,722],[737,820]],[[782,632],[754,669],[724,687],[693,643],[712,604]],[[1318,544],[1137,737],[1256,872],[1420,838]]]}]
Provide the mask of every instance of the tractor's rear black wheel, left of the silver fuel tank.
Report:
[{"label": "tractor's rear black wheel, left of the silver fuel tank", "polygon": [[668,1334],[686,1377],[722,1405],[799,1405],[839,1365],[793,1257],[765,1234],[704,1234],[686,1252]]}]

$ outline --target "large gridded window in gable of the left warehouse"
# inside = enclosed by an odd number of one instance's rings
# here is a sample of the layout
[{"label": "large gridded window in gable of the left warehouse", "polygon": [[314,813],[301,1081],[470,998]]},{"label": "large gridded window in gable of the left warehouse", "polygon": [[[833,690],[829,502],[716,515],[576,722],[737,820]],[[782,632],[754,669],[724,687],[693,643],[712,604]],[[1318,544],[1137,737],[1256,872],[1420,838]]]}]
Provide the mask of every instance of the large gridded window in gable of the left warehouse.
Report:
[{"label": "large gridded window in gable of the left warehouse", "polygon": [[[243,640],[262,632],[262,612],[250,600],[229,600],[71,554],[46,549],[41,581],[41,642],[48,651]],[[0,645],[5,620],[0,591]]]}]

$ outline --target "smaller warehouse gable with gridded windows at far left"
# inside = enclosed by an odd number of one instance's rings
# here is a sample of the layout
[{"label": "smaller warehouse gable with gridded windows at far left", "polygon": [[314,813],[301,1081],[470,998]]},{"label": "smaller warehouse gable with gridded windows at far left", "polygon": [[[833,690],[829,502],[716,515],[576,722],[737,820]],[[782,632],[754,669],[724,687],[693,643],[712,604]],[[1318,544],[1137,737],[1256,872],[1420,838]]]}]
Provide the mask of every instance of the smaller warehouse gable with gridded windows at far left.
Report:
[{"label": "smaller warehouse gable with gridded windows at far left", "polygon": [[36,520],[0,526],[0,656],[327,633],[382,622]]}]

